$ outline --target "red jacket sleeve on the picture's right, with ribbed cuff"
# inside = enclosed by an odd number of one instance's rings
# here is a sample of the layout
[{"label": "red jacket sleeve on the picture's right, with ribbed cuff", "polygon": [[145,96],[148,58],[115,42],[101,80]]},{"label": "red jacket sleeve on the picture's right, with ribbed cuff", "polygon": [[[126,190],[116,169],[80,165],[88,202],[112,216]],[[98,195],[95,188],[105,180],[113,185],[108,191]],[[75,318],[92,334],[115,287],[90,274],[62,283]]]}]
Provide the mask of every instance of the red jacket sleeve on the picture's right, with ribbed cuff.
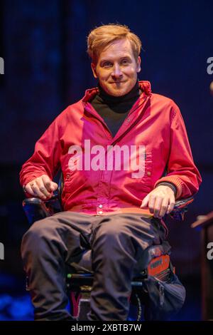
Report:
[{"label": "red jacket sleeve on the picture's right, with ribbed cuff", "polygon": [[176,199],[190,197],[199,190],[202,177],[192,158],[187,130],[180,109],[173,103],[170,120],[170,155],[167,163],[167,175],[155,182],[171,182],[177,187]]}]

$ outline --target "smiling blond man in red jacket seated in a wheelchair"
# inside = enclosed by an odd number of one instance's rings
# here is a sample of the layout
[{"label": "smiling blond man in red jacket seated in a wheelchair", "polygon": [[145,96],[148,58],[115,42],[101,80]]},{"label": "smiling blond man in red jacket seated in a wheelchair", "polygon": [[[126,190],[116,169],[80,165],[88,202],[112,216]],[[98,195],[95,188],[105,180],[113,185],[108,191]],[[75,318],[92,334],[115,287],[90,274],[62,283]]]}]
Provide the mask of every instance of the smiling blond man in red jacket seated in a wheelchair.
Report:
[{"label": "smiling blond man in red jacket seated in a wheelchair", "polygon": [[71,319],[65,264],[92,249],[89,320],[126,320],[134,269],[165,241],[161,220],[201,182],[177,105],[138,81],[141,41],[128,27],[99,26],[88,53],[98,86],[65,109],[23,165],[28,197],[46,200],[64,177],[64,212],[35,222],[22,242],[35,319]]}]

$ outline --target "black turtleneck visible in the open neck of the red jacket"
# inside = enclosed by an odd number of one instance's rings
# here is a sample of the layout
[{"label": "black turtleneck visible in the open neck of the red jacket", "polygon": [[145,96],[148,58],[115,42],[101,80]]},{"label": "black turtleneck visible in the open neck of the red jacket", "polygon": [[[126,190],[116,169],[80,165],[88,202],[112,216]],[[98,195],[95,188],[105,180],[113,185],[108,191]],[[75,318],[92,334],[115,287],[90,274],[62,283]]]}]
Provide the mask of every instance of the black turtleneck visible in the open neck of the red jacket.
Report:
[{"label": "black turtleneck visible in the open neck of the red jacket", "polygon": [[105,123],[107,123],[107,126],[114,137],[126,116],[129,114],[133,104],[141,95],[138,80],[131,91],[124,96],[110,96],[104,91],[99,83],[97,86],[99,88],[99,93],[90,103],[97,113],[104,119]]}]

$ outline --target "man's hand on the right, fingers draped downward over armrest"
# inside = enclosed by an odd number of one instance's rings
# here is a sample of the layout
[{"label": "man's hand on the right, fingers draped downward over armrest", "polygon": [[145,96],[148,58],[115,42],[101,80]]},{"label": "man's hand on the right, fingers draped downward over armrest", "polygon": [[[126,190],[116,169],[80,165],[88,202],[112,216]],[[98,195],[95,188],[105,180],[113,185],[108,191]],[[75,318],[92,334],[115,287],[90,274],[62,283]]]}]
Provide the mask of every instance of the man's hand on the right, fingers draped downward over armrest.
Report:
[{"label": "man's hand on the right, fingers draped downward over armrest", "polygon": [[159,185],[152,190],[141,203],[141,208],[148,207],[154,217],[164,217],[165,213],[172,212],[175,206],[175,194],[165,185]]}]

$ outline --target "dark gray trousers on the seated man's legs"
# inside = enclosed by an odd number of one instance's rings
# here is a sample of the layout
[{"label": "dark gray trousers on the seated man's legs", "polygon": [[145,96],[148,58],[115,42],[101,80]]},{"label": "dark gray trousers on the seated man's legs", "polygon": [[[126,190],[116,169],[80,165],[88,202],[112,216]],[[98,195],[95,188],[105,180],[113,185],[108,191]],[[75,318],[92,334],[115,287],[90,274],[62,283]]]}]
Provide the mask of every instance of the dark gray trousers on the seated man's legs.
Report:
[{"label": "dark gray trousers on the seated man's legs", "polygon": [[[144,250],[162,244],[165,228],[141,214],[60,212],[35,222],[21,244],[35,320],[69,319],[66,264],[92,250],[90,320],[126,320],[133,270]],[[70,318],[71,319],[71,318]]]}]

